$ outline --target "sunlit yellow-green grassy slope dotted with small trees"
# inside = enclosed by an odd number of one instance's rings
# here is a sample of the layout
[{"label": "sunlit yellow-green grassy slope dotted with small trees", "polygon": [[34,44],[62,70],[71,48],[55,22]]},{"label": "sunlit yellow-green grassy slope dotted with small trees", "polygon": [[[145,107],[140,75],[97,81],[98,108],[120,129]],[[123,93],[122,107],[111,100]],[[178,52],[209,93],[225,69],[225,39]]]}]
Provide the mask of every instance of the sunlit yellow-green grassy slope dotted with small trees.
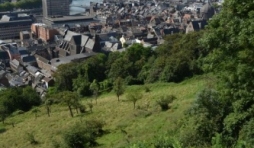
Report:
[{"label": "sunlit yellow-green grassy slope dotted with small trees", "polygon": [[[41,106],[37,118],[30,111],[8,118],[4,125],[1,123],[0,147],[51,148],[54,146],[54,141],[61,140],[61,134],[70,125],[91,118],[105,122],[104,130],[107,131],[107,134],[98,138],[99,147],[124,147],[128,143],[149,141],[154,136],[177,127],[178,122],[183,119],[184,110],[189,107],[197,92],[206,83],[204,76],[195,77],[179,84],[155,83],[149,85],[151,91],[147,93],[144,91],[144,86],[130,86],[126,93],[137,89],[143,92],[143,98],[138,100],[135,110],[132,102],[125,99],[125,95],[121,96],[121,101],[118,102],[113,93],[100,96],[97,104],[93,101],[92,113],[75,114],[73,118],[70,117],[66,106],[53,105],[51,117],[47,116],[45,107]],[[164,112],[156,104],[156,96],[162,94],[172,94],[177,97],[172,103],[171,109]],[[83,99],[82,103],[87,104],[87,100]],[[87,110],[89,111],[88,107]],[[14,127],[11,123],[14,123]],[[38,144],[30,144],[29,133],[34,135]]]}]

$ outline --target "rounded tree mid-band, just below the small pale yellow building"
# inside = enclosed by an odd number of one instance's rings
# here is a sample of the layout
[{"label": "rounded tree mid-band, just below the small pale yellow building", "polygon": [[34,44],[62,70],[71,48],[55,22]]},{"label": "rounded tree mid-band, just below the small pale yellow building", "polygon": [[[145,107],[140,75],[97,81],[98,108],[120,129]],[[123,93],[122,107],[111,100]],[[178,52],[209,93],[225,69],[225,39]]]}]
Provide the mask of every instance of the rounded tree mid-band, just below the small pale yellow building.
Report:
[{"label": "rounded tree mid-band, just below the small pale yellow building", "polygon": [[113,81],[121,77],[127,84],[143,84],[143,79],[138,76],[146,61],[153,54],[150,48],[145,48],[141,44],[133,44],[122,53],[109,54],[106,64],[108,78]]}]

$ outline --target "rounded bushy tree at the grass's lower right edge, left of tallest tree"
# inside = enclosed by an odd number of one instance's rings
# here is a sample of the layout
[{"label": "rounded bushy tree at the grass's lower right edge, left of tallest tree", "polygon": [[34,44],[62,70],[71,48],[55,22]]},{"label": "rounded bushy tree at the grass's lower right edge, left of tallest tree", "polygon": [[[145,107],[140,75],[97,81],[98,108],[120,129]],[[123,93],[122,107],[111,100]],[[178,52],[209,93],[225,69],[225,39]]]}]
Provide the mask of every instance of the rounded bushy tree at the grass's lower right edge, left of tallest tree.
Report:
[{"label": "rounded bushy tree at the grass's lower right edge, left of tallest tree", "polygon": [[[223,118],[225,105],[223,101],[219,99],[219,92],[212,88],[205,88],[201,90],[193,102],[191,109],[189,110],[186,118],[191,117],[191,120],[187,120],[188,126],[192,127],[190,133],[185,133],[187,136],[183,140],[185,147],[202,147],[203,145],[212,145],[212,138],[219,136],[223,130],[221,120]],[[188,127],[186,127],[188,131]],[[191,135],[190,135],[191,134]],[[216,137],[218,138],[218,137]],[[218,143],[218,140],[217,144]]]}]

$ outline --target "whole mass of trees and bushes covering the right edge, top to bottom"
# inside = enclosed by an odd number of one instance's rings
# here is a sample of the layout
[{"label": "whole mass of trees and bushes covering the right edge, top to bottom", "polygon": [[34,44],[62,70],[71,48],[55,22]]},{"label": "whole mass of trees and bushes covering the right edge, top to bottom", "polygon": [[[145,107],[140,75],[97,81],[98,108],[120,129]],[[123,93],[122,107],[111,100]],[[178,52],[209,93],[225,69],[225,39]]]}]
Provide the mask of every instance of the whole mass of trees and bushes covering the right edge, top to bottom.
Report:
[{"label": "whole mass of trees and bushes covering the right edge, top to bottom", "polygon": [[253,147],[253,8],[252,1],[226,0],[209,21],[200,44],[210,53],[204,70],[217,76],[217,85],[203,90],[193,105],[195,128],[183,140],[186,146],[217,141],[219,147]]}]

